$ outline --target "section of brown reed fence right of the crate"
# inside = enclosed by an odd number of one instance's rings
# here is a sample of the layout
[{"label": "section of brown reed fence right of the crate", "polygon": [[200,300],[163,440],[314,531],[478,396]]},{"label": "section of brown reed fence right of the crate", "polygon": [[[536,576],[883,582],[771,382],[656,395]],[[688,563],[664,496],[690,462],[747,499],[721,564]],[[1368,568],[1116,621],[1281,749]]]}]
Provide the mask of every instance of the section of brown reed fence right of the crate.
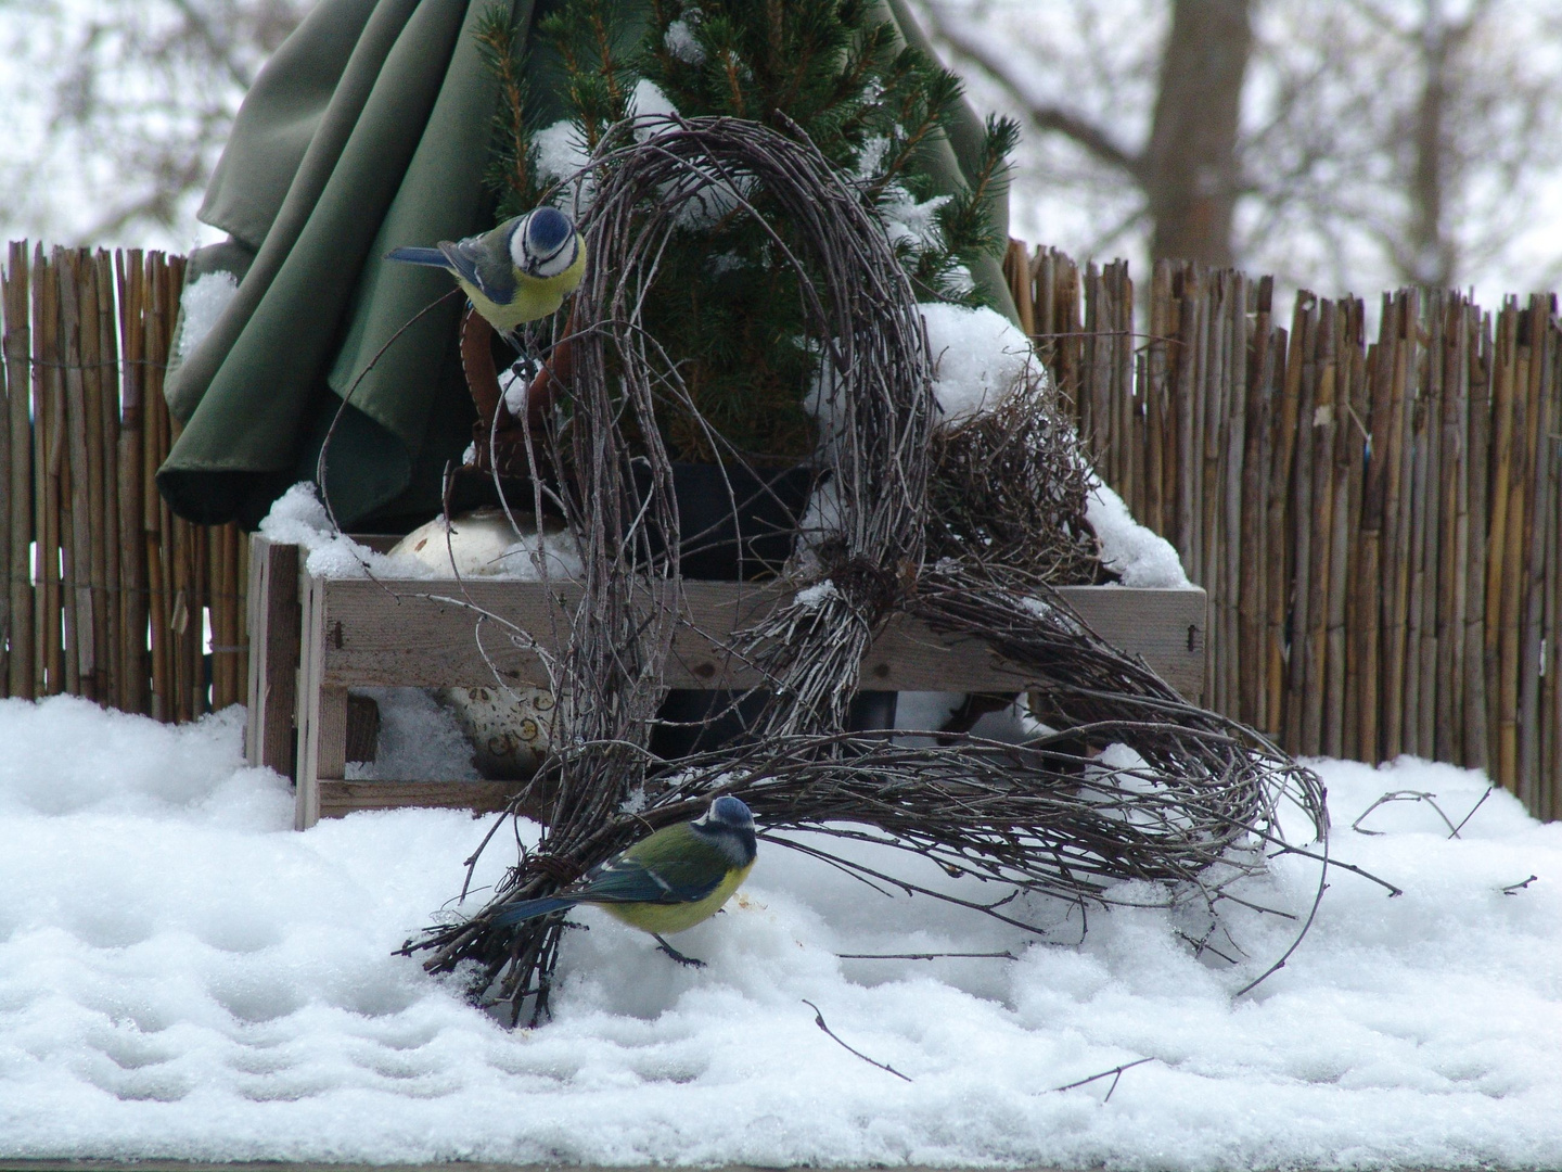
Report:
[{"label": "section of brown reed fence right of the crate", "polygon": [[1484,767],[1562,817],[1554,295],[1361,300],[1011,242],[1101,477],[1209,591],[1207,702],[1296,753]]}]

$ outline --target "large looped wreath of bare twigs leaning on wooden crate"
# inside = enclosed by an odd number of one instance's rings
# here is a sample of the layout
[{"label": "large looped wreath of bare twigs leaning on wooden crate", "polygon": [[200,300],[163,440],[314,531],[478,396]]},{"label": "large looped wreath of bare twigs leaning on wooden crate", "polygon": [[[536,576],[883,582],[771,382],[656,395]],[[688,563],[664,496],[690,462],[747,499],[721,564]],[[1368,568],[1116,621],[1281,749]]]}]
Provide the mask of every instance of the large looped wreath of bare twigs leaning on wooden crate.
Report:
[{"label": "large looped wreath of bare twigs leaning on wooden crate", "polygon": [[[1161,884],[1165,905],[1201,903],[1214,925],[1231,884],[1261,874],[1268,855],[1309,853],[1284,839],[1278,813],[1293,803],[1323,834],[1314,774],[1182,702],[1034,572],[990,556],[945,553],[929,564],[936,406],[923,322],[883,223],[806,139],[723,117],[640,119],[612,128],[581,178],[590,266],[572,316],[569,395],[556,397],[526,448],[537,514],[550,500],[562,509],[584,561],[584,597],[555,666],[558,752],[512,806],[544,792],[551,811],[537,847],[520,849],[483,909],[436,924],[405,952],[430,952],[431,972],[461,966],[470,995],[508,1003],[512,1022],[530,1000],[539,1020],[564,913],[514,927],[494,925],[494,913],[556,891],[650,830],[697,816],[717,794],[747,802],[769,844],[886,892],[948,900],[1039,934],[1036,897],[1081,909],[1143,903],[1143,886],[1114,894],[1126,880]],[[787,563],[789,602],[733,636],[734,658],[764,681],[751,694],[762,702],[753,734],[669,763],[648,744],[686,608],[672,464],[656,419],[659,406],[692,411],[692,400],[678,356],[640,328],[640,308],[681,227],[720,216],[764,222],[758,192],[792,228],[769,231],[775,264],[798,280],[831,398],[815,492],[833,508],[814,514],[822,520]],[[1050,431],[1050,442],[1062,431]],[[709,441],[723,467],[745,464],[714,428]],[[1043,545],[1051,539],[1036,534]],[[1076,534],[1056,541],[1073,544]],[[859,664],[893,611],[984,639],[1023,667],[1034,716],[1057,731],[1023,745],[947,734],[915,747],[843,731]],[[1107,745],[1132,752],[1103,758]],[[512,817],[495,824],[478,853]],[[789,839],[787,830],[814,833]],[[861,849],[834,853],[823,845],[831,841],[931,859],[950,877],[989,881],[995,894],[951,894],[870,867]]]}]

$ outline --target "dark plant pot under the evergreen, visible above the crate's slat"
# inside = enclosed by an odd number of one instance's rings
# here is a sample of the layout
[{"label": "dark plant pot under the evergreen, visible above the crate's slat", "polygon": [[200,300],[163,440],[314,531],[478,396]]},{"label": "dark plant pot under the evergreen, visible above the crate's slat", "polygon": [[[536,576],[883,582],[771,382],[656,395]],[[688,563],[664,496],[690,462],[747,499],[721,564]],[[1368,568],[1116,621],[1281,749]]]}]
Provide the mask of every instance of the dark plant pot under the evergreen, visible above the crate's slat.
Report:
[{"label": "dark plant pot under the evergreen, visible above the crate's slat", "polygon": [[[651,473],[644,463],[634,464],[634,488],[642,500],[650,492]],[[806,466],[750,470],[675,461],[679,572],[704,581],[778,573],[792,553],[812,488],[814,469]],[[667,552],[654,525],[650,544],[656,558]]]}]

